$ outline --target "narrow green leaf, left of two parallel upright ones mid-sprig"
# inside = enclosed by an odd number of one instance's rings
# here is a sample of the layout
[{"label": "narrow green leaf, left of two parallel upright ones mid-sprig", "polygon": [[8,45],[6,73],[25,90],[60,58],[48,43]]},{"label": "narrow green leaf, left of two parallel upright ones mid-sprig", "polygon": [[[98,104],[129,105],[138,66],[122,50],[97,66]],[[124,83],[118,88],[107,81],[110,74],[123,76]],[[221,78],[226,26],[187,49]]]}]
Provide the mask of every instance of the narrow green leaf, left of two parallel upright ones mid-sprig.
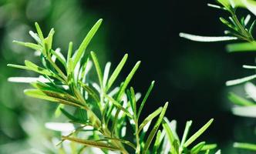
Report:
[{"label": "narrow green leaf, left of two parallel upright ones mid-sprig", "polygon": [[114,70],[113,74],[110,76],[109,81],[106,85],[106,91],[110,89],[111,85],[113,85],[113,82],[115,82],[117,76],[120,74],[121,70],[123,69],[123,65],[126,63],[126,60],[128,58],[128,55],[124,55],[121,62],[116,66],[116,69]]}]

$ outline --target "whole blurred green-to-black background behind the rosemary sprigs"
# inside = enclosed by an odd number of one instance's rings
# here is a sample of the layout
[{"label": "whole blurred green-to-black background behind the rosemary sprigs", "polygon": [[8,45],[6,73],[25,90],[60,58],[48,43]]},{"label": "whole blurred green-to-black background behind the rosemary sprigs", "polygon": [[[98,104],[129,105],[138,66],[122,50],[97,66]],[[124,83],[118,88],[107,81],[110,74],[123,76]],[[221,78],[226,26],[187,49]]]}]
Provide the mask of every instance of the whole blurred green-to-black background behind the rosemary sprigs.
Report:
[{"label": "whole blurred green-to-black background behind the rosemary sprigs", "polygon": [[223,12],[207,7],[208,2],[214,1],[0,0],[0,153],[55,152],[49,142],[52,132],[44,128],[45,122],[57,121],[55,105],[23,95],[29,85],[7,82],[10,76],[35,76],[7,68],[8,63],[22,64],[24,59],[36,61],[32,51],[12,40],[32,41],[29,30],[39,22],[45,34],[56,29],[54,46],[66,52],[69,41],[78,47],[99,18],[103,25],[88,50],[99,55],[102,65],[107,61],[117,65],[128,53],[123,78],[136,61],[142,61],[131,85],[144,93],[156,80],[147,112],[169,101],[167,116],[177,119],[180,135],[187,120],[194,120],[196,131],[214,118],[202,138],[217,142],[224,153],[234,153],[231,142],[256,142],[255,119],[230,112],[227,92],[242,92],[241,87],[224,85],[252,73],[241,65],[253,64],[255,54],[231,55],[224,43],[190,42],[178,36],[179,32],[223,35],[225,27],[218,21]]}]

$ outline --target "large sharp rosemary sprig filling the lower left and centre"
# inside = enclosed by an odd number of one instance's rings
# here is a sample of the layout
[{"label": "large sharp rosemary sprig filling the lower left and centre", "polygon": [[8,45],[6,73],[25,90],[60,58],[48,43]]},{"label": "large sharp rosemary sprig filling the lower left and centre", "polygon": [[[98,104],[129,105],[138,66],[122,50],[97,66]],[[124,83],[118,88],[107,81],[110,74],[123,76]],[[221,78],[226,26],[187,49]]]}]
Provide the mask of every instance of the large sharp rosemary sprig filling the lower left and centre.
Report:
[{"label": "large sharp rosemary sprig filling the lower left and centre", "polygon": [[[45,126],[49,129],[69,129],[68,135],[62,136],[58,145],[59,153],[66,153],[66,140],[72,143],[70,153],[209,153],[215,149],[215,144],[206,144],[194,141],[211,125],[213,119],[207,122],[201,129],[188,138],[192,121],[188,121],[184,135],[180,139],[176,132],[176,121],[164,117],[168,102],[146,119],[141,119],[143,107],[153,89],[154,82],[143,96],[140,102],[140,93],[136,93],[133,87],[128,85],[133,78],[140,62],[134,65],[126,79],[120,86],[114,86],[126,63],[128,55],[124,55],[120,63],[110,75],[110,62],[106,63],[105,69],[101,69],[96,53],[86,53],[86,47],[96,34],[102,23],[99,19],[88,32],[79,49],[72,48],[65,58],[60,49],[52,48],[54,29],[52,28],[47,37],[42,34],[39,25],[35,23],[37,33],[30,31],[29,34],[35,39],[35,43],[18,42],[39,53],[42,65],[25,60],[25,65],[8,64],[9,67],[25,69],[39,73],[39,77],[12,77],[11,82],[29,82],[34,89],[25,89],[25,95],[49,102],[56,102],[56,115],[66,115],[69,122],[48,122]],[[75,51],[73,53],[73,51]],[[91,66],[94,65],[96,81],[89,78]],[[139,103],[140,102],[140,103]],[[158,117],[158,118],[157,118]],[[156,120],[154,120],[156,119]],[[155,121],[155,123],[153,123]],[[150,126],[151,124],[151,126]],[[151,128],[151,130],[150,130]],[[163,129],[160,129],[163,128]],[[154,139],[154,137],[156,138]],[[76,148],[74,148],[76,147]],[[221,153],[221,151],[217,151]]]}]

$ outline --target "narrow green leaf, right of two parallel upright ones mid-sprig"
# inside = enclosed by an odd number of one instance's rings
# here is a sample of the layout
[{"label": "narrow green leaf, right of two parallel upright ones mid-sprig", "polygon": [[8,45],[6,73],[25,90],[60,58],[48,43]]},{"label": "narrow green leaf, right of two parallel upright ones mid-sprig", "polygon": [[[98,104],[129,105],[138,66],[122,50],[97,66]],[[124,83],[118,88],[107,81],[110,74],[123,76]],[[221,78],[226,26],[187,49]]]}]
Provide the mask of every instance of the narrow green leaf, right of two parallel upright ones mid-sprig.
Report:
[{"label": "narrow green leaf, right of two parallel upright ones mid-sprig", "polygon": [[136,70],[140,66],[140,61],[136,62],[136,65],[134,65],[132,71],[130,72],[129,75],[127,75],[126,80],[123,82],[123,85],[121,86],[120,92],[118,93],[116,100],[120,100],[121,97],[123,96],[123,93],[126,90],[127,85],[130,83],[130,80],[133,78],[133,75],[135,74]]}]

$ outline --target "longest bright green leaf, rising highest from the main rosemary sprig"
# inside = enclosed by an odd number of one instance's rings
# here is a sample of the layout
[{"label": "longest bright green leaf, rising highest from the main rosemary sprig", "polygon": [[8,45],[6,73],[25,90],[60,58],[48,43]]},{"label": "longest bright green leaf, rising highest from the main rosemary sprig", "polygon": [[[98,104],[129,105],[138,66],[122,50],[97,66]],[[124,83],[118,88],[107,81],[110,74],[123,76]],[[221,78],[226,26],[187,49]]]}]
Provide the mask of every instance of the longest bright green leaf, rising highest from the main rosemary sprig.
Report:
[{"label": "longest bright green leaf, rising highest from the main rosemary sprig", "polygon": [[98,22],[96,22],[95,25],[93,25],[93,28],[91,28],[91,30],[89,30],[88,34],[86,35],[86,38],[83,39],[83,42],[81,43],[81,45],[79,46],[79,49],[77,50],[76,54],[74,55],[74,65],[73,67],[76,67],[76,64],[79,62],[79,60],[83,57],[84,52],[87,48],[87,46],[89,45],[89,42],[91,41],[91,39],[93,39],[93,36],[96,34],[99,26],[101,25],[101,22],[103,22],[103,19],[99,19]]}]

